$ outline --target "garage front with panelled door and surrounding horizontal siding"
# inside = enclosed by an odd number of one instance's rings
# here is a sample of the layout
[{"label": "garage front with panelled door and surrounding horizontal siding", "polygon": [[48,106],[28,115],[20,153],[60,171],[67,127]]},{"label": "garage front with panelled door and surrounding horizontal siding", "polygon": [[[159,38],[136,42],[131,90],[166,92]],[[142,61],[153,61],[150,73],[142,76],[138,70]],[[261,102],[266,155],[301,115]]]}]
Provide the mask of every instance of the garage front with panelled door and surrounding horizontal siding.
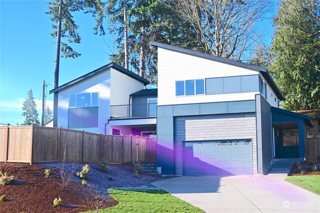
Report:
[{"label": "garage front with panelled door and surrounding horizontal siding", "polygon": [[176,175],[252,174],[255,114],[176,116],[174,148]]}]

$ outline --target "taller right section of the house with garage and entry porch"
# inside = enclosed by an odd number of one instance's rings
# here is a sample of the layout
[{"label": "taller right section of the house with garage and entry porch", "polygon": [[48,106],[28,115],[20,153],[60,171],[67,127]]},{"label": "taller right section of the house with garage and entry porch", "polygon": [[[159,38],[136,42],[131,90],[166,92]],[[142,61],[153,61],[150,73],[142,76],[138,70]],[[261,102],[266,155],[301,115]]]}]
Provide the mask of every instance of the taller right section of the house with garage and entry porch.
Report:
[{"label": "taller right section of the house with garage and entry porch", "polygon": [[284,97],[265,68],[151,45],[158,54],[161,174],[264,173],[273,158],[304,158],[310,117],[278,108]]}]

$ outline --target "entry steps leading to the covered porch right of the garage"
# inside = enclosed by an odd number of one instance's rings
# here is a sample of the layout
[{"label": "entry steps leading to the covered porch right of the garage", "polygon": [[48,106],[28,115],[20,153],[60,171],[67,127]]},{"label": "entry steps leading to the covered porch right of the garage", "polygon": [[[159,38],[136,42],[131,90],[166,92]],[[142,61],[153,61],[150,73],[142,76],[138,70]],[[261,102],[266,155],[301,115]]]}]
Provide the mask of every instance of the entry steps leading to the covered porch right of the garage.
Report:
[{"label": "entry steps leading to the covered porch right of the garage", "polygon": [[277,158],[272,160],[268,173],[289,173],[290,168],[295,162],[303,162],[304,158]]}]

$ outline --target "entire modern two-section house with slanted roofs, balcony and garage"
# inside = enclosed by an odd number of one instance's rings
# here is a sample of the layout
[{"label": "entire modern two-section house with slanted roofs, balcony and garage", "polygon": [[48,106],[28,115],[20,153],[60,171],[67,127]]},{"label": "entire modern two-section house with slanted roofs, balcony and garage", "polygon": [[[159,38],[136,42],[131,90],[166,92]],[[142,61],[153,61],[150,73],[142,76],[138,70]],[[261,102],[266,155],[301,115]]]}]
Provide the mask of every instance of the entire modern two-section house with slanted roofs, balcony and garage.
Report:
[{"label": "entire modern two-section house with slanted roofs, balcony and garage", "polygon": [[58,93],[58,125],[157,137],[162,175],[264,173],[273,159],[304,158],[310,117],[278,108],[284,97],[264,67],[162,43],[158,88],[109,63]]}]

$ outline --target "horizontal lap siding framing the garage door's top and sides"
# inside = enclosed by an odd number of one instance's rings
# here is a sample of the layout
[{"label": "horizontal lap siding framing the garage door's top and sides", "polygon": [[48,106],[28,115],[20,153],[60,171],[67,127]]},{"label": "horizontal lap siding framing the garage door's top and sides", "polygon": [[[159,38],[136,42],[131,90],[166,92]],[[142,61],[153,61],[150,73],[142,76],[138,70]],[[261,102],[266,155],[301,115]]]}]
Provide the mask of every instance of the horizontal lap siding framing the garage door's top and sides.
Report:
[{"label": "horizontal lap siding framing the garage door's top and sides", "polygon": [[174,118],[175,174],[182,175],[183,141],[252,139],[253,173],[257,172],[255,114],[221,114]]}]

